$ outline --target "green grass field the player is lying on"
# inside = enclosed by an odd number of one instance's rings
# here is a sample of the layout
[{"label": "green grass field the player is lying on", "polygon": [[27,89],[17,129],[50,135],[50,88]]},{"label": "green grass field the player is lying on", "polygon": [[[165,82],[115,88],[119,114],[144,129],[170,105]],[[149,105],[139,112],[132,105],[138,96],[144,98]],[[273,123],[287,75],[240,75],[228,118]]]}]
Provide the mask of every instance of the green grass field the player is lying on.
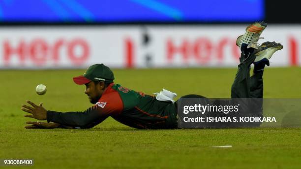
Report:
[{"label": "green grass field the player is lying on", "polygon": [[[48,110],[91,106],[72,77],[85,70],[0,70],[0,159],[34,159],[31,168],[300,169],[301,128],[136,130],[112,118],[89,130],[26,130],[26,100]],[[229,98],[236,69],[115,69],[116,83],[152,94]],[[35,93],[45,84],[47,93]],[[267,68],[265,98],[301,98],[301,68]],[[232,148],[212,146],[232,145]],[[0,167],[1,168],[1,167]],[[14,168],[14,167],[9,167]],[[23,167],[15,167],[23,168]]]}]

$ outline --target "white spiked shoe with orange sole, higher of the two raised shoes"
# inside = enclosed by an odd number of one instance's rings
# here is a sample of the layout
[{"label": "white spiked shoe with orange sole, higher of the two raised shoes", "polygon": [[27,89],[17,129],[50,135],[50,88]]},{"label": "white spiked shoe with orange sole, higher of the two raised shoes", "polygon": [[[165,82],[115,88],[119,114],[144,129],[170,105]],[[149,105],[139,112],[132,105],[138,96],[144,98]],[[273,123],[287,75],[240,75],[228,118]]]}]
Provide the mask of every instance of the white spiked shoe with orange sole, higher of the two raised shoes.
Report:
[{"label": "white spiked shoe with orange sole, higher of the two raised shoes", "polygon": [[258,50],[258,40],[262,39],[260,37],[261,33],[267,28],[268,24],[264,22],[255,22],[254,24],[249,25],[245,29],[245,33],[240,35],[236,40],[236,45],[240,47],[244,43],[247,45],[247,48],[254,48]]}]

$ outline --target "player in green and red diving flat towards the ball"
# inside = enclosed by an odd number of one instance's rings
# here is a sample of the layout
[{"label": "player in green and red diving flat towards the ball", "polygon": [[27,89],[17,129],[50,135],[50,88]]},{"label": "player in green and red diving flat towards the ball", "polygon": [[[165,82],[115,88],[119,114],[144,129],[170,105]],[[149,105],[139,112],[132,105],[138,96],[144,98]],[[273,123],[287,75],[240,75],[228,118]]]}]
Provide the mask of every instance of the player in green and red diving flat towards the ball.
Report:
[{"label": "player in green and red diving flat towards the ball", "polygon": [[[241,49],[240,64],[231,88],[231,98],[263,98],[263,72],[272,54],[283,48],[280,43],[264,42],[258,39],[267,24],[256,22],[246,28],[245,34],[238,37],[236,44]],[[250,77],[250,66],[254,64]],[[151,96],[136,92],[114,83],[114,74],[103,64],[90,66],[84,75],[73,78],[78,85],[86,85],[85,94],[94,104],[84,112],[59,112],[46,110],[42,103],[22,105],[29,113],[25,117],[46,122],[27,122],[27,129],[88,129],[111,116],[118,122],[136,129],[175,129],[178,127],[177,101],[173,93]],[[163,91],[164,92],[164,91]],[[203,98],[199,95],[186,95],[181,98]],[[179,100],[181,100],[181,98]]]}]

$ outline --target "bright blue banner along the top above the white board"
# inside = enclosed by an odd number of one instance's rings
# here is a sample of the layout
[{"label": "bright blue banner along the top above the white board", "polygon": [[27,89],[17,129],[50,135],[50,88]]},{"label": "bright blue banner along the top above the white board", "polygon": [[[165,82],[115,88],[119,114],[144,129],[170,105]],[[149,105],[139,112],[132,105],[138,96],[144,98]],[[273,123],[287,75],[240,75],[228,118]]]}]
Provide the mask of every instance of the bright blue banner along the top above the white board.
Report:
[{"label": "bright blue banner along the top above the white board", "polygon": [[0,0],[0,22],[251,22],[264,0]]}]

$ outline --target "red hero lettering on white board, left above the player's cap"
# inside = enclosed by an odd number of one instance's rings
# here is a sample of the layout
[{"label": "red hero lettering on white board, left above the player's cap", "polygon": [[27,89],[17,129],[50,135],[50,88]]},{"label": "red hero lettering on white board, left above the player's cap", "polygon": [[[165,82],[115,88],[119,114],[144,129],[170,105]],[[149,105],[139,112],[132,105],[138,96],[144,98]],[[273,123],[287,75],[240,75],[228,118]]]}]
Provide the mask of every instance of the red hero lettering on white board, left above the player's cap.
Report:
[{"label": "red hero lettering on white board, left above the player's cap", "polygon": [[17,57],[21,65],[30,60],[37,66],[44,66],[49,61],[58,65],[63,56],[73,65],[82,65],[89,59],[89,43],[82,38],[66,40],[57,39],[54,43],[47,42],[47,39],[36,38],[30,42],[21,39],[17,43],[6,39],[3,41],[3,61],[9,66],[13,57]]}]

